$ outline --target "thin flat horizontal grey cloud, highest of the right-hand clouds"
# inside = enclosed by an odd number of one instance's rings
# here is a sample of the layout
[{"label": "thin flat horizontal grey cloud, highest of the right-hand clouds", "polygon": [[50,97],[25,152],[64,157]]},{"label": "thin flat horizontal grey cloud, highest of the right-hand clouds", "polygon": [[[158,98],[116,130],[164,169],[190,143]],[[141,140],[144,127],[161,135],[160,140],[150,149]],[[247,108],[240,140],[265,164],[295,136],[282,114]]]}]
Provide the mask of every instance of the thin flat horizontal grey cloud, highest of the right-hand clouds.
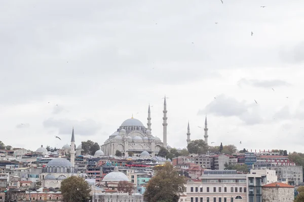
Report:
[{"label": "thin flat horizontal grey cloud, highest of the right-hand clouds", "polygon": [[238,81],[238,85],[242,87],[243,85],[251,85],[254,87],[261,88],[275,88],[279,86],[289,86],[290,84],[286,81],[274,79],[274,80],[257,80],[257,79],[246,79],[242,78]]}]

